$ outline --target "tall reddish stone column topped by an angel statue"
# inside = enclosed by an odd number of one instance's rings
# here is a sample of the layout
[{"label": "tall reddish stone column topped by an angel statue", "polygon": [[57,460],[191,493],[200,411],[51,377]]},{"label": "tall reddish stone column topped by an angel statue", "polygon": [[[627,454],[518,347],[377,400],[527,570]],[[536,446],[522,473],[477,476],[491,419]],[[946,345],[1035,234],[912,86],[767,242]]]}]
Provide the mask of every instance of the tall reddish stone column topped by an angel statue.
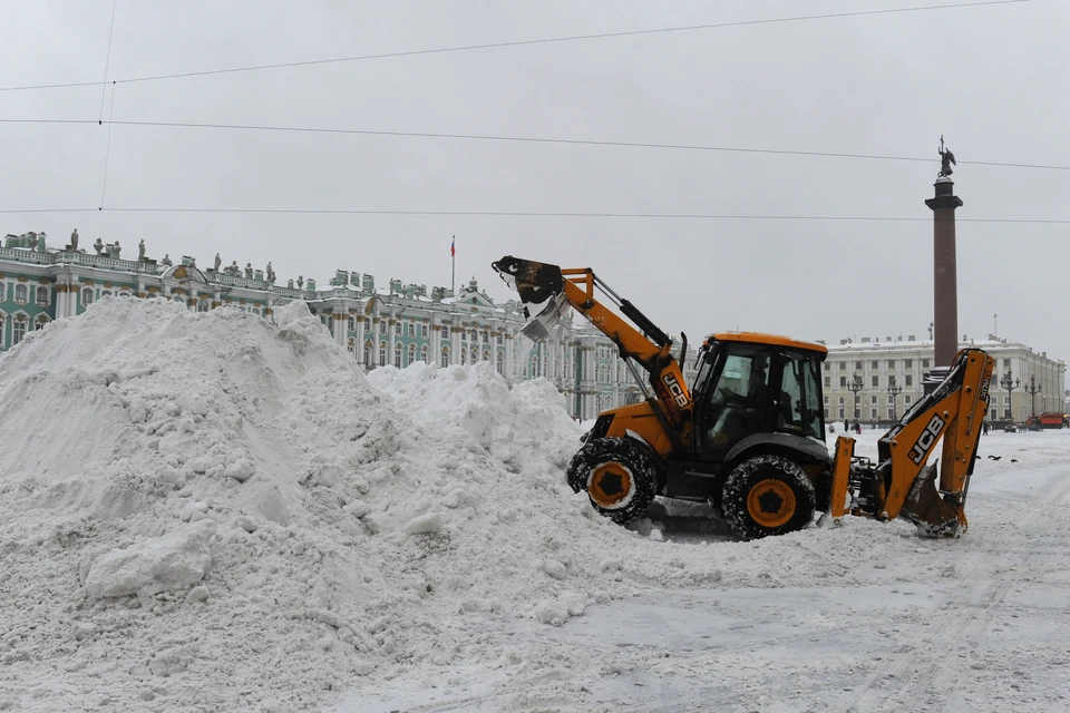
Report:
[{"label": "tall reddish stone column topped by an angel statue", "polygon": [[941,168],[933,187],[935,195],[925,202],[933,209],[933,342],[934,367],[947,368],[959,351],[959,285],[955,274],[955,208],[962,198],[955,195],[951,166],[955,156],[944,149],[940,137]]}]

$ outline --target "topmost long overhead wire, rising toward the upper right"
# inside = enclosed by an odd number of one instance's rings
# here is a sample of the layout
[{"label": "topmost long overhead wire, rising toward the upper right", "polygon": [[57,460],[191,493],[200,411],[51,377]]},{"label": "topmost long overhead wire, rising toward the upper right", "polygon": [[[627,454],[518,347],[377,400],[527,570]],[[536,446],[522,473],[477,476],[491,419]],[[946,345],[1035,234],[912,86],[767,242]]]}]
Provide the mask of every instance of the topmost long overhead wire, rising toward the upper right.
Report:
[{"label": "topmost long overhead wire, rising toward the upper right", "polygon": [[[984,0],[981,2],[960,2],[953,4],[931,4],[931,6],[921,6],[913,8],[886,8],[882,10],[859,10],[855,12],[829,12],[825,14],[806,14],[806,16],[796,16],[787,18],[767,18],[763,20],[737,20],[733,22],[711,22],[707,25],[689,25],[684,27],[667,27],[667,28],[654,28],[646,30],[628,30],[622,32],[599,32],[594,35],[573,35],[567,37],[552,37],[552,38],[542,38],[534,40],[514,40],[508,42],[488,42],[484,45],[464,45],[457,47],[440,47],[434,49],[418,49],[418,50],[406,50],[397,52],[382,52],[377,55],[358,55],[354,57],[334,57],[328,59],[310,59],[304,61],[293,61],[293,62],[278,62],[272,65],[254,65],[250,67],[227,67],[222,69],[205,69],[202,71],[185,71],[185,72],[175,72],[169,75],[154,75],[147,77],[130,77],[127,79],[116,79],[116,84],[133,84],[140,81],[159,81],[163,79],[183,79],[186,77],[204,77],[207,75],[228,75],[228,74],[239,74],[246,71],[262,71],[269,69],[284,69],[290,67],[312,67],[318,65],[332,65],[340,62],[357,62],[366,61],[373,59],[392,59],[399,57],[418,57],[421,55],[442,55],[447,52],[470,52],[477,50],[486,49],[500,49],[505,47],[526,47],[534,45],[551,45],[551,43],[561,43],[561,42],[578,42],[586,40],[601,40],[601,39],[612,39],[621,37],[638,37],[643,35],[663,35],[669,32],[691,32],[699,30],[712,30],[730,27],[745,27],[751,25],[775,25],[782,22],[804,22],[813,20],[830,20],[835,18],[856,18],[856,17],[867,17],[867,16],[882,16],[882,14],[901,14],[904,12],[925,12],[934,10],[954,10],[962,8],[979,8],[985,6],[996,6],[996,4],[1019,4],[1023,2],[1033,2],[1034,0]],[[19,87],[0,87],[0,91],[25,91],[31,89],[65,89],[71,87],[97,87],[100,86],[100,81],[70,81],[62,84],[48,84],[48,85],[27,85]]]}]

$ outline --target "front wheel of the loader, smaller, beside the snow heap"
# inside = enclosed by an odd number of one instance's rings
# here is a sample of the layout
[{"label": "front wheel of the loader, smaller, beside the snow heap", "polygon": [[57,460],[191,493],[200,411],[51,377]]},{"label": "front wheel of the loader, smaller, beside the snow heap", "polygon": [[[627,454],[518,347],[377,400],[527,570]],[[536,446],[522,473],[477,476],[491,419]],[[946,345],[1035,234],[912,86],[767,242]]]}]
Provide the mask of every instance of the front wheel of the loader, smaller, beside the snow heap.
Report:
[{"label": "front wheel of the loader, smaller, beside the snow heap", "polygon": [[626,525],[645,516],[654,501],[658,469],[635,439],[595,438],[572,457],[568,486],[576,492],[586,490],[595,510]]}]

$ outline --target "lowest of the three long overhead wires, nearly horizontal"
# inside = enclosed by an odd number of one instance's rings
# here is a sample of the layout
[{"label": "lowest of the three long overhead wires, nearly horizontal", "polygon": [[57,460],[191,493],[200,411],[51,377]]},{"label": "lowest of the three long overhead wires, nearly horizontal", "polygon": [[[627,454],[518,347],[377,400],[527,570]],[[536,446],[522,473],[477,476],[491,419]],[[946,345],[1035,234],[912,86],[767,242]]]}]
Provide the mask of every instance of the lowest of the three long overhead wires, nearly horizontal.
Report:
[{"label": "lowest of the three long overhead wires, nearly horizontal", "polygon": [[[597,212],[542,212],[542,211],[388,211],[359,208],[166,208],[166,207],[108,207],[108,208],[0,208],[0,214],[11,213],[205,213],[205,214],[290,214],[290,215],[411,215],[411,216],[477,216],[477,217],[541,217],[541,218],[652,218],[697,221],[865,221],[893,223],[932,222],[932,217],[866,216],[866,215],[761,215],[713,213],[597,213]],[[1044,218],[963,218],[959,223],[1014,223],[1014,224],[1070,224],[1070,219]]]}]

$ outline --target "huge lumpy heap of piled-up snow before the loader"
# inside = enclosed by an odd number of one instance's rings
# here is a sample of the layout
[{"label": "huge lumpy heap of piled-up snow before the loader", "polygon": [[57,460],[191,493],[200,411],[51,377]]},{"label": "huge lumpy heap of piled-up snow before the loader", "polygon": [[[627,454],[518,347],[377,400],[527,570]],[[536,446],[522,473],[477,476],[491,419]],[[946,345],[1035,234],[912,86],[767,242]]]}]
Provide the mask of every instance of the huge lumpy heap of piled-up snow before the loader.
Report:
[{"label": "huge lumpy heap of piled-up snow before the loader", "polygon": [[[0,710],[302,710],[514,656],[487,617],[849,577],[795,536],[711,550],[596,516],[545,380],[368,379],[303,303],[275,319],[115,297],[0,355]],[[848,529],[844,560],[907,546]]]}]

